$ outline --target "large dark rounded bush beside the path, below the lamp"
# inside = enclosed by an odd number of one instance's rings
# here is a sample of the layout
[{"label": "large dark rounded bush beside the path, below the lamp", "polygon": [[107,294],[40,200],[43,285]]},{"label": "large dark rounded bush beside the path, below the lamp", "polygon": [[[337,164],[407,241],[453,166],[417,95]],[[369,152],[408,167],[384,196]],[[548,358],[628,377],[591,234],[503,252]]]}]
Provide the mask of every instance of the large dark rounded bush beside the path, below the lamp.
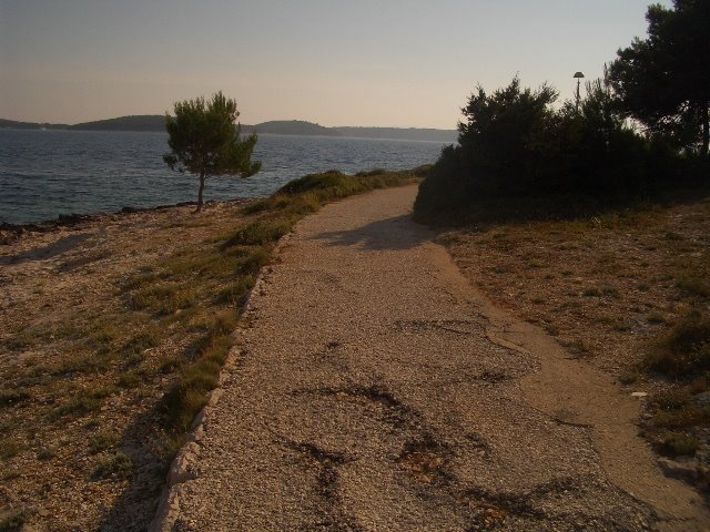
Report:
[{"label": "large dark rounded bush beside the path, below the lamp", "polygon": [[462,110],[458,144],[419,188],[416,217],[465,216],[481,198],[643,196],[689,174],[662,137],[627,125],[606,81],[588,83],[579,106],[555,109],[556,100],[552,88],[521,89],[517,78],[491,94],[479,86]]}]

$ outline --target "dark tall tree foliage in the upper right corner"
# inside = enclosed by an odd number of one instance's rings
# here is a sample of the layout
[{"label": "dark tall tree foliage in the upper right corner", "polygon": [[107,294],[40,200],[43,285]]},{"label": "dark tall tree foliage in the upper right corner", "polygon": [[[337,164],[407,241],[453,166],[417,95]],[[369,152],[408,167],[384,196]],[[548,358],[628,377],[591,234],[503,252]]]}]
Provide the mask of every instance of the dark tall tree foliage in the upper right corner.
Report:
[{"label": "dark tall tree foliage in the upper right corner", "polygon": [[628,113],[677,145],[708,154],[710,3],[673,0],[648,8],[648,39],[617,52],[610,79]]}]

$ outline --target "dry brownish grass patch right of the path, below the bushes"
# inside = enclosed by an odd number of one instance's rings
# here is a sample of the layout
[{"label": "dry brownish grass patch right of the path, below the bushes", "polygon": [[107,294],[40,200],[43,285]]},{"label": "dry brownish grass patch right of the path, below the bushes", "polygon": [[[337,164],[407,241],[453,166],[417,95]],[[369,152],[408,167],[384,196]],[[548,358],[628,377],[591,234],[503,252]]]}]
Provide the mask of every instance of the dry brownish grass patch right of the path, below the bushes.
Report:
[{"label": "dry brownish grass patch right of the path, below the bushes", "polygon": [[[488,297],[648,391],[643,433],[666,454],[710,450],[710,202],[443,233]],[[700,456],[700,454],[699,454]]]}]

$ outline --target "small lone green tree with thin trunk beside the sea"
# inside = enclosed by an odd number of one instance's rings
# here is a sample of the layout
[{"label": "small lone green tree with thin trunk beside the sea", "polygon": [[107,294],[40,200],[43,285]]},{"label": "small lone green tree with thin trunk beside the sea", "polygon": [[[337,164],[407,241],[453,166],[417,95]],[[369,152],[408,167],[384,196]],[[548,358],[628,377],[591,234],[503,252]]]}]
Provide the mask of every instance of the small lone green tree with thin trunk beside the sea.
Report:
[{"label": "small lone green tree with thin trunk beside the sea", "polygon": [[200,180],[197,211],[202,208],[204,181],[212,175],[254,175],[261,163],[252,161],[256,135],[240,136],[240,115],[236,101],[217,92],[212,100],[204,98],[176,102],[174,116],[165,116],[168,145],[163,156],[171,170],[190,172]]}]

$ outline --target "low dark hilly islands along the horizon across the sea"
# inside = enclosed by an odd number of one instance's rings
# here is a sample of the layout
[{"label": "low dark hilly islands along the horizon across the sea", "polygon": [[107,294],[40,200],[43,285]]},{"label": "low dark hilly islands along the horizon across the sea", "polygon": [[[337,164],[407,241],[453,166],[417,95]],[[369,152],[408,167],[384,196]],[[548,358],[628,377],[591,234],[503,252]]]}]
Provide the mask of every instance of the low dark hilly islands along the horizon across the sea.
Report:
[{"label": "low dark hilly islands along the horizon across the sea", "polygon": [[[50,124],[40,122],[17,122],[0,119],[0,129],[12,130],[74,130],[74,131],[165,131],[162,114],[141,114],[118,119],[82,122],[80,124]],[[244,133],[271,135],[342,136],[354,139],[392,139],[404,141],[456,142],[456,130],[426,127],[326,127],[303,120],[274,120],[261,124],[242,124]]]}]

